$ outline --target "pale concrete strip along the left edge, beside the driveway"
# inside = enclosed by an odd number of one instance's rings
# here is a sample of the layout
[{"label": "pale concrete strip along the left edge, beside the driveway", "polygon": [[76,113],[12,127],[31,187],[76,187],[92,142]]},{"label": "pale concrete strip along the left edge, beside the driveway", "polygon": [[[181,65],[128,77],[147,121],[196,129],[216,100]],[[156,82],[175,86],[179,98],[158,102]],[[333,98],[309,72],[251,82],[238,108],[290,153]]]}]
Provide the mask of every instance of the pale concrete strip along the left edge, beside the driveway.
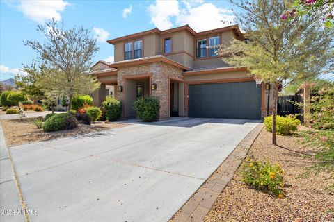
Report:
[{"label": "pale concrete strip along the left edge, beside the driveway", "polygon": [[[15,165],[7,147],[3,129],[0,123],[0,208],[1,221],[31,222],[22,191],[15,171]],[[3,211],[3,212],[2,212]]]}]

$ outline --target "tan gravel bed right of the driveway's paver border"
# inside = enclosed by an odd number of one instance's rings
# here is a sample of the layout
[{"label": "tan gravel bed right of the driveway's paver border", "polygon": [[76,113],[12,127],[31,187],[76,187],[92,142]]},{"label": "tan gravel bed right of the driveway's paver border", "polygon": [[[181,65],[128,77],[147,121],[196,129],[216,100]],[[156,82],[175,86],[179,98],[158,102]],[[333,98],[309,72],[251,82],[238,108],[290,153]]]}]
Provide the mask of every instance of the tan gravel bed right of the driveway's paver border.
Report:
[{"label": "tan gravel bed right of the driveway's paver border", "polygon": [[285,171],[287,195],[279,199],[242,183],[239,171],[216,200],[204,221],[334,221],[334,196],[326,187],[334,183],[325,173],[300,177],[312,165],[312,150],[299,144],[299,137],[278,136],[263,129],[247,157],[278,163]]}]

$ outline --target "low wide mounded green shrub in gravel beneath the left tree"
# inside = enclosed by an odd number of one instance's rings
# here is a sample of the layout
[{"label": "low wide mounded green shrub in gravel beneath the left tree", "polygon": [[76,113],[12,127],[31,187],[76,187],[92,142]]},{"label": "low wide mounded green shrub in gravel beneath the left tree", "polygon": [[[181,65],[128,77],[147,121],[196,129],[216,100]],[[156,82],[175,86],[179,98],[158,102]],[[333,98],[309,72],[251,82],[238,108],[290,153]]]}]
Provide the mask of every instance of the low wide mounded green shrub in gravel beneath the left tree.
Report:
[{"label": "low wide mounded green shrub in gravel beneath the left tree", "polygon": [[70,130],[77,128],[78,121],[72,114],[61,113],[49,117],[43,125],[43,131],[52,132],[58,130]]}]

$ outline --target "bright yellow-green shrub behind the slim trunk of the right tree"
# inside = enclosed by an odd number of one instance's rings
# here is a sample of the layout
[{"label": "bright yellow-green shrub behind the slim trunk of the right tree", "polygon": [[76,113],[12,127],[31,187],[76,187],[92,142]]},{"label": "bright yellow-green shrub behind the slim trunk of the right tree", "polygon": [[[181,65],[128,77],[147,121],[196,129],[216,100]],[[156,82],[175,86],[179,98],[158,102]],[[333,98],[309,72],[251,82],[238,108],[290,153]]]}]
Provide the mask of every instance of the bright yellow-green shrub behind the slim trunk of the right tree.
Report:
[{"label": "bright yellow-green shrub behind the slim trunk of the right tree", "polygon": [[[281,117],[276,116],[276,133],[280,135],[289,135],[297,130],[297,126],[301,124],[299,119],[296,119],[296,116],[287,116]],[[265,117],[264,118],[264,126],[266,126],[266,130],[272,132],[273,130],[273,117]]]}]

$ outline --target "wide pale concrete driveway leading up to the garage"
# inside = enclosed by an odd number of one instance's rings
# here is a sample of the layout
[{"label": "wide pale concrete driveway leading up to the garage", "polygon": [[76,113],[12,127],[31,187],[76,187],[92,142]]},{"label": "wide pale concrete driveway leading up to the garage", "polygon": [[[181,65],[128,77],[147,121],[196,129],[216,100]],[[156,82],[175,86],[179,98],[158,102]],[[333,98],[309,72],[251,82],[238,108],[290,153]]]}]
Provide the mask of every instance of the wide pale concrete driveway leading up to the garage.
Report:
[{"label": "wide pale concrete driveway leading up to the garage", "polygon": [[32,221],[168,221],[258,123],[126,122],[10,148]]}]

